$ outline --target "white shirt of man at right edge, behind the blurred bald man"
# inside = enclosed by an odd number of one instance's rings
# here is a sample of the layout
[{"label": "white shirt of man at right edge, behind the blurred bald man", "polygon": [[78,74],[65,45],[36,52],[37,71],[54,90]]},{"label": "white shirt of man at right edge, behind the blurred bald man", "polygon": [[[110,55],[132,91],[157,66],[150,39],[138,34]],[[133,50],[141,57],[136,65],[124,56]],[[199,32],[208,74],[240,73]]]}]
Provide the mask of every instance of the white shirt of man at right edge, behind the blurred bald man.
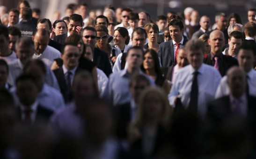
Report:
[{"label": "white shirt of man at right edge, behind the blurred bald man", "polygon": [[[249,95],[251,96],[256,96],[256,71],[254,69],[251,69],[248,73],[247,76],[249,78],[247,79],[247,83],[249,85]],[[220,80],[218,89],[215,94],[215,98],[220,98],[223,96],[227,96],[230,94],[229,87],[227,85],[227,76],[222,77]]]}]

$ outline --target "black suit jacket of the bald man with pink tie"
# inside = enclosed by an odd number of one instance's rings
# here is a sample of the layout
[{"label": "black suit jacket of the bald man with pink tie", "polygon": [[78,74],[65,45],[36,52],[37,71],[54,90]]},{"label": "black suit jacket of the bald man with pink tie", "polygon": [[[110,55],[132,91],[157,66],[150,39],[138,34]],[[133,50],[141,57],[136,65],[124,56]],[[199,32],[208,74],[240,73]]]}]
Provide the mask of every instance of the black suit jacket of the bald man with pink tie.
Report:
[{"label": "black suit jacket of the bald man with pink tie", "polygon": [[[238,66],[237,59],[233,58],[232,56],[223,55],[222,53],[220,53],[219,56],[222,58],[219,59],[219,73],[221,76],[225,76],[227,70],[232,66]],[[211,59],[211,53],[205,55],[204,63],[214,66],[215,60],[214,58]]]}]

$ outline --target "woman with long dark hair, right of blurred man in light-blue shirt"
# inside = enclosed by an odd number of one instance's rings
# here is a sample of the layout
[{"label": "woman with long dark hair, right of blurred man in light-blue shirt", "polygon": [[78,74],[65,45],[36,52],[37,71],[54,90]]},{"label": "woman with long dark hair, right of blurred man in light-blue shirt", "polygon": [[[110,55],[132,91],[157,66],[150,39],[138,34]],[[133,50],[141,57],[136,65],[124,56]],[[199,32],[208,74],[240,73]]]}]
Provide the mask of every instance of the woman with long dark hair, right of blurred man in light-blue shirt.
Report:
[{"label": "woman with long dark hair, right of blurred man in light-blue shirt", "polygon": [[169,94],[170,86],[168,81],[162,76],[159,58],[154,49],[146,50],[142,70],[154,80],[157,86],[162,87],[166,94]]}]

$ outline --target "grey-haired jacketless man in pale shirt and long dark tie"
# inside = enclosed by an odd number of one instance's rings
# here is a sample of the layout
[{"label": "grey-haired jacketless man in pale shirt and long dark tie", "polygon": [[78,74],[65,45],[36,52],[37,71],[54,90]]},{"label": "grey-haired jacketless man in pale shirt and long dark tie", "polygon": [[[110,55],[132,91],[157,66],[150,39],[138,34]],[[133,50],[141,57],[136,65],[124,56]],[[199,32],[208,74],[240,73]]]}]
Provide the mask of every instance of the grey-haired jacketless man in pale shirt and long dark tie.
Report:
[{"label": "grey-haired jacketless man in pale shirt and long dark tie", "polygon": [[170,105],[176,106],[180,98],[187,111],[205,118],[207,104],[214,100],[221,76],[218,70],[203,63],[205,47],[202,41],[190,40],[185,49],[190,65],[178,71],[168,99]]}]

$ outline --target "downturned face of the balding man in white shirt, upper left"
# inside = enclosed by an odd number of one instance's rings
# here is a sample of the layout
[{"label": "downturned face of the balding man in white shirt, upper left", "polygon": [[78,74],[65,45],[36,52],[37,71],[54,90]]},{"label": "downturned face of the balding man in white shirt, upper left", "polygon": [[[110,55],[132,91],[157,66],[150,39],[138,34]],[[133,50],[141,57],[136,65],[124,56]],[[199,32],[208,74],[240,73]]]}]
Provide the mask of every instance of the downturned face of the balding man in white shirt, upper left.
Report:
[{"label": "downturned face of the balding man in white shirt, upper left", "polygon": [[37,52],[37,54],[43,54],[48,43],[49,43],[49,36],[36,34],[34,37],[35,52]]}]

